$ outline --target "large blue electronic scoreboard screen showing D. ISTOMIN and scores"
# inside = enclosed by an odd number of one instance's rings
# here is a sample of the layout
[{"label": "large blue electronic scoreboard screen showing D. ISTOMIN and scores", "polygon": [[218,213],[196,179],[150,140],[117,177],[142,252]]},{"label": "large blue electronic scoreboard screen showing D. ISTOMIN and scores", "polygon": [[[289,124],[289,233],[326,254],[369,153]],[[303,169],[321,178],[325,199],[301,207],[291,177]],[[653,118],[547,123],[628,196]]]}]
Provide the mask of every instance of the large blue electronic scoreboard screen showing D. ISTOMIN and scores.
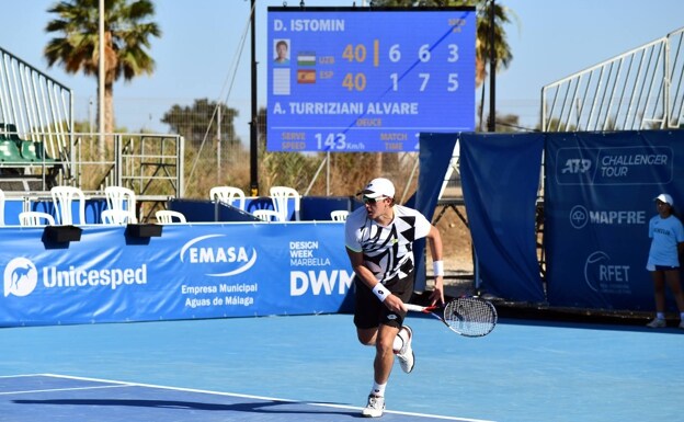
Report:
[{"label": "large blue electronic scoreboard screen showing D. ISTOMIN and scores", "polygon": [[417,151],[475,128],[474,8],[269,8],[270,151]]}]

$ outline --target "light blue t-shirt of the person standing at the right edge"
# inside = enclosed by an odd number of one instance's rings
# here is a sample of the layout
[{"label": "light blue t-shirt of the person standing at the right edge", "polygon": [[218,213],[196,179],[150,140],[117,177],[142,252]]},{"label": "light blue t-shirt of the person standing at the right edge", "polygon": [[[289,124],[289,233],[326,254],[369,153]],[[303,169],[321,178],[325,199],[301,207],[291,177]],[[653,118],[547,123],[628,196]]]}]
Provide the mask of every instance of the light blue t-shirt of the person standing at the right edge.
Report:
[{"label": "light blue t-shirt of the person standing at the right edge", "polygon": [[649,238],[653,239],[647,264],[649,271],[652,271],[654,265],[680,265],[677,243],[684,242],[684,228],[675,216],[661,218],[657,215],[651,218]]}]

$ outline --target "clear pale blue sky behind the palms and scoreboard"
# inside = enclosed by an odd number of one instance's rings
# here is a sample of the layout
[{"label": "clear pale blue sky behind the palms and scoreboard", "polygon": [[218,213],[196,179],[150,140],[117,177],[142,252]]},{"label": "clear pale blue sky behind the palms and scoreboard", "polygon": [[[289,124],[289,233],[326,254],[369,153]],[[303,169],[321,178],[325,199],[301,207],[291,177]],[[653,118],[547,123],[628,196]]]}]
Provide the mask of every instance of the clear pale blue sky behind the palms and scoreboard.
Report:
[{"label": "clear pale blue sky behind the palms and scoreboard", "polygon": [[[300,0],[289,0],[298,5]],[[499,114],[517,114],[524,126],[538,122],[540,90],[547,83],[609,59],[684,26],[683,0],[497,0],[514,19],[506,27],[513,61],[497,79]],[[356,4],[363,0],[355,0]],[[55,0],[0,0],[0,47],[71,88],[77,119],[94,121],[96,81],[47,68],[44,31]],[[266,9],[284,1],[256,0],[259,106],[265,106]],[[353,5],[353,0],[306,0],[307,5]],[[151,77],[114,87],[116,122],[129,130],[168,133],[160,118],[173,104],[208,98],[240,110],[236,129],[249,140],[250,0],[156,1],[163,32],[152,39],[157,69]],[[247,33],[246,33],[247,31]],[[477,101],[480,92],[475,93]],[[487,98],[489,94],[487,93]],[[486,110],[489,105],[486,103]]]}]

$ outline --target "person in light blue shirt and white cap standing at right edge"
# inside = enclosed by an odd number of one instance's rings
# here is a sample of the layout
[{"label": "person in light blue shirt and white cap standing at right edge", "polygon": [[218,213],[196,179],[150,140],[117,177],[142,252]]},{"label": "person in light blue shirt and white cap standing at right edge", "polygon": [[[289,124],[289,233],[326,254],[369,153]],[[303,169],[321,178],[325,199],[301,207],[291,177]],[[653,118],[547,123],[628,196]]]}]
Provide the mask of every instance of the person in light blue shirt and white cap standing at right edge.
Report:
[{"label": "person in light blue shirt and white cap standing at right edge", "polygon": [[670,286],[677,308],[680,309],[680,328],[684,329],[684,294],[680,284],[680,259],[684,253],[684,227],[673,214],[672,196],[666,193],[658,195],[656,207],[658,215],[649,221],[651,249],[646,269],[651,272],[656,296],[656,318],[647,326],[650,328],[666,327],[665,321],[665,283]]}]

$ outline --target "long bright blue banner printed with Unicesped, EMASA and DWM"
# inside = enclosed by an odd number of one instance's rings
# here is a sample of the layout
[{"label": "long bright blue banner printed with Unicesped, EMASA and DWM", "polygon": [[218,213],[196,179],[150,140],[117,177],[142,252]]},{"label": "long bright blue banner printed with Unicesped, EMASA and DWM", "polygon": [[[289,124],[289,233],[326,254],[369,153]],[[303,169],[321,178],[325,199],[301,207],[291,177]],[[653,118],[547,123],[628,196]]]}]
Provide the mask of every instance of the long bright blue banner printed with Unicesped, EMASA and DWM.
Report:
[{"label": "long bright blue banner printed with Unicesped, EMASA and DWM", "polygon": [[338,312],[353,275],[342,224],[170,225],[149,241],[86,226],[68,244],[0,230],[1,326]]}]

